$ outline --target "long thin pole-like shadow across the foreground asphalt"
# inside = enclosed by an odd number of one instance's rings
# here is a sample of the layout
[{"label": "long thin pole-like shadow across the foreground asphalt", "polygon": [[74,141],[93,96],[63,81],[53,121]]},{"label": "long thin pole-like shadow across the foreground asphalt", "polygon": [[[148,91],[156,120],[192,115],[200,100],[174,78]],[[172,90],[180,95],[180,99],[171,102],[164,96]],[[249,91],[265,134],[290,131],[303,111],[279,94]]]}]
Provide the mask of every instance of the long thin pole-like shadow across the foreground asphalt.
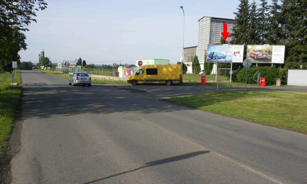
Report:
[{"label": "long thin pole-like shadow across the foreground asphalt", "polygon": [[105,179],[108,179],[108,178],[112,178],[112,177],[115,177],[115,176],[119,176],[119,175],[123,175],[123,174],[129,173],[129,172],[134,172],[134,171],[137,171],[137,170],[145,168],[145,167],[151,167],[151,166],[160,165],[160,164],[167,164],[167,163],[170,163],[170,162],[176,162],[176,161],[188,159],[188,158],[191,158],[191,157],[194,157],[194,156],[198,156],[198,155],[201,155],[201,154],[205,154],[205,153],[209,153],[209,152],[210,151],[197,151],[197,152],[192,152],[192,153],[187,153],[187,154],[183,154],[183,155],[178,155],[178,156],[173,156],[173,157],[165,158],[165,159],[162,159],[162,160],[156,160],[156,161],[153,161],[153,162],[148,162],[148,163],[146,163],[145,166],[136,168],[134,170],[126,171],[126,172],[121,172],[121,173],[118,173],[118,174],[115,174],[115,175],[111,175],[111,176],[107,176],[107,177],[104,177],[104,178],[96,179],[96,180],[93,180],[93,181],[90,181],[90,182],[86,182],[86,183],[83,183],[83,184],[99,182],[99,181],[102,181],[102,180],[105,180]]}]

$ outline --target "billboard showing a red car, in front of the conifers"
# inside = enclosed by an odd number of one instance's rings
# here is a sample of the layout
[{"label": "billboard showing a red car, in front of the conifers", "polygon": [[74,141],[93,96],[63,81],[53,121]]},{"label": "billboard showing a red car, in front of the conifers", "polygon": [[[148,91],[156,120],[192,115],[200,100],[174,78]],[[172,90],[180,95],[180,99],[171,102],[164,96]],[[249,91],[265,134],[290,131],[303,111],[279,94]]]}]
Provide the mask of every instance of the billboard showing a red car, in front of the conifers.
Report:
[{"label": "billboard showing a red car, in front of the conifers", "polygon": [[247,59],[252,63],[284,63],[284,45],[247,45]]}]

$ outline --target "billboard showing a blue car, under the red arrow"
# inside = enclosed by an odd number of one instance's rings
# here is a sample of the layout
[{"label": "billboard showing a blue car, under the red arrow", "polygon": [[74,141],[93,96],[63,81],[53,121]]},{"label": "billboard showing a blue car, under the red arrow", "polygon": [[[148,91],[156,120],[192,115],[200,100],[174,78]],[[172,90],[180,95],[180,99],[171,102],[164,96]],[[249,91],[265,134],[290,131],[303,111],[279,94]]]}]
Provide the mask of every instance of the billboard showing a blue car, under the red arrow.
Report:
[{"label": "billboard showing a blue car, under the red arrow", "polygon": [[208,45],[207,62],[242,63],[244,45]]}]

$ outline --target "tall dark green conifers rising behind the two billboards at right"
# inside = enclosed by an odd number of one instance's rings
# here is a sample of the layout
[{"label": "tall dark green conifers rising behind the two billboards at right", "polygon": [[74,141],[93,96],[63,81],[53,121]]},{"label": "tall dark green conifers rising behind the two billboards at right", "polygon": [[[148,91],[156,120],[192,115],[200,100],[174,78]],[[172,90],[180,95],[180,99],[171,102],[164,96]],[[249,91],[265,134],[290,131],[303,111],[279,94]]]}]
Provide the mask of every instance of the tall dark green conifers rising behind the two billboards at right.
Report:
[{"label": "tall dark green conifers rising behind the two billboards at right", "polygon": [[285,68],[307,68],[307,1],[259,2],[240,0],[231,44],[285,45]]}]

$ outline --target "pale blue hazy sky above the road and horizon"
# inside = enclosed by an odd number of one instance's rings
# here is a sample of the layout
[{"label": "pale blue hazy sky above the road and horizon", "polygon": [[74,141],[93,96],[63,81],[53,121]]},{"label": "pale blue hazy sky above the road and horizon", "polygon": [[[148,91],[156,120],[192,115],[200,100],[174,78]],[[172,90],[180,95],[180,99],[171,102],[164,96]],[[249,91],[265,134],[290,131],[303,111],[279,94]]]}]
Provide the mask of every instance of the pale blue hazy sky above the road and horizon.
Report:
[{"label": "pale blue hazy sky above the road and horizon", "polygon": [[198,20],[234,18],[239,1],[47,1],[25,32],[21,61],[38,62],[42,49],[53,63],[81,57],[87,64],[134,64],[142,59],[177,63],[184,46],[198,43]]}]

